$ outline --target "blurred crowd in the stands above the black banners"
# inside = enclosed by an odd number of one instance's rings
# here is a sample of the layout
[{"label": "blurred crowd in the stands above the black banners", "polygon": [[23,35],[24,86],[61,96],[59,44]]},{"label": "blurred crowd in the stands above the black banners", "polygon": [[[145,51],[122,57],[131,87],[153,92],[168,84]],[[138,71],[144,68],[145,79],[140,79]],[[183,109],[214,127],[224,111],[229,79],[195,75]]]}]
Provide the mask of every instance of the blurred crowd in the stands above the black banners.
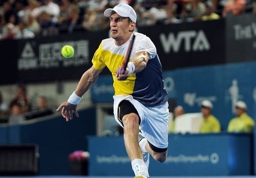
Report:
[{"label": "blurred crowd in the stands above the black banners", "polygon": [[105,30],[109,20],[103,11],[119,3],[134,7],[139,27],[256,13],[256,0],[2,0],[0,36],[5,40]]}]

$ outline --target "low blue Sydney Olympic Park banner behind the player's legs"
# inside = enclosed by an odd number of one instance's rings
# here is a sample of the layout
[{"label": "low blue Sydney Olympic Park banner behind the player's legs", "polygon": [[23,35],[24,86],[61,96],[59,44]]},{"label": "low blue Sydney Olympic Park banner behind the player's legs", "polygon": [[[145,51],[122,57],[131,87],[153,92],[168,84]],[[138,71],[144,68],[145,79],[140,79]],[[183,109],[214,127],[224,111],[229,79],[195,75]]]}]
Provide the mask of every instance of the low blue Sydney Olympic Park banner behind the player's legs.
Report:
[{"label": "low blue Sydney Olympic Park banner behind the player's legs", "polygon": [[[168,142],[166,162],[150,160],[152,176],[252,173],[250,134],[169,135]],[[122,137],[90,137],[89,151],[90,175],[133,175]]]}]

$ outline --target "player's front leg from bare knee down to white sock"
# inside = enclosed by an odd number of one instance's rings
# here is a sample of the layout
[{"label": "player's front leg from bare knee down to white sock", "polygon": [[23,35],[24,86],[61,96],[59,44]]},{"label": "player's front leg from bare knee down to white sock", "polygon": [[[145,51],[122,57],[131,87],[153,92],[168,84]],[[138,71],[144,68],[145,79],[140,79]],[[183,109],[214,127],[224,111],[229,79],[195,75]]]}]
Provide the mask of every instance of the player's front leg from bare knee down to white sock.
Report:
[{"label": "player's front leg from bare knee down to white sock", "polygon": [[126,114],[122,118],[124,126],[124,145],[127,154],[132,161],[132,167],[135,175],[149,177],[148,170],[143,162],[142,153],[139,147],[139,117],[135,113]]}]

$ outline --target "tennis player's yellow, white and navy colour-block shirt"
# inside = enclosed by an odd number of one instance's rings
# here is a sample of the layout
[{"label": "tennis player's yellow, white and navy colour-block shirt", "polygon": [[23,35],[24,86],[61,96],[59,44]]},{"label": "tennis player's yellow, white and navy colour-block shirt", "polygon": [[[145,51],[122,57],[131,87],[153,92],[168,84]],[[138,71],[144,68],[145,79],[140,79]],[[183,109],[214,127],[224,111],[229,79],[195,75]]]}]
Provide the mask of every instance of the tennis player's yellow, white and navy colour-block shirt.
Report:
[{"label": "tennis player's yellow, white and navy colour-block shirt", "polygon": [[131,59],[137,52],[148,52],[150,60],[148,60],[146,68],[129,75],[123,81],[119,81],[115,77],[116,70],[122,65],[131,38],[121,46],[117,46],[113,38],[102,40],[92,59],[93,67],[98,70],[105,66],[109,68],[114,81],[115,95],[132,95],[146,107],[161,105],[168,100],[168,93],[164,87],[162,65],[156,52],[156,46],[147,36],[136,32],[134,34],[136,38]]}]

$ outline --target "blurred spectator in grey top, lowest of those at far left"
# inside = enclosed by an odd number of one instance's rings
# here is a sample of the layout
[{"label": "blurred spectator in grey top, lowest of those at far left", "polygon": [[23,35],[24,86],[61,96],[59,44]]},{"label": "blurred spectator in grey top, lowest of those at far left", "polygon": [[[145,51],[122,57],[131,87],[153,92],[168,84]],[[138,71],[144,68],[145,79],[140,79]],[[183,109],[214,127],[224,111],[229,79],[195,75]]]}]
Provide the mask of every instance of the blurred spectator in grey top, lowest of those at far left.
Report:
[{"label": "blurred spectator in grey top, lowest of those at far left", "polygon": [[11,115],[9,117],[9,123],[21,123],[25,120],[22,107],[17,103],[11,106]]}]

